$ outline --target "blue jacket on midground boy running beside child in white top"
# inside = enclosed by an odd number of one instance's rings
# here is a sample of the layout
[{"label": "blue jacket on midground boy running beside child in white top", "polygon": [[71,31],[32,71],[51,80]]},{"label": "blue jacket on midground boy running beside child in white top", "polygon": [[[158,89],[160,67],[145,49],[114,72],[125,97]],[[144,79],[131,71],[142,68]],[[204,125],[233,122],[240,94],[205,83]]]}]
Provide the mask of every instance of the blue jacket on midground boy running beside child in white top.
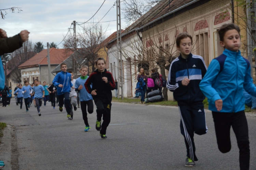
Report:
[{"label": "blue jacket on midground boy running beside child in white top", "polygon": [[53,79],[53,84],[58,87],[59,84],[62,84],[63,87],[57,88],[58,95],[62,95],[65,92],[70,92],[70,88],[73,86],[71,83],[71,74],[68,72],[59,72]]}]

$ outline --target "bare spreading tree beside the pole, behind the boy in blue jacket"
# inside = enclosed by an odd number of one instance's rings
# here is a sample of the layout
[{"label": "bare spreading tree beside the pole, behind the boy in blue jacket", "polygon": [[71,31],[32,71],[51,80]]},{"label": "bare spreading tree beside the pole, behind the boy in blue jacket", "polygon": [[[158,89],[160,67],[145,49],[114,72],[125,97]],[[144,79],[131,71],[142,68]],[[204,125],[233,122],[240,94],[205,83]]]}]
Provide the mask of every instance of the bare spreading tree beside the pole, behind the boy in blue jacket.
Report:
[{"label": "bare spreading tree beside the pole, behind the boy in blue jacket", "polygon": [[[89,65],[88,71],[91,73],[95,70],[94,62],[99,53],[104,52],[106,30],[107,28],[103,28],[99,23],[90,23],[86,27],[81,26],[80,30],[76,29],[76,38],[72,34],[68,35],[64,40],[63,47],[75,52],[74,60],[86,60]],[[79,65],[77,62],[75,63]],[[79,69],[77,66],[72,67],[75,72],[76,68]]]}]

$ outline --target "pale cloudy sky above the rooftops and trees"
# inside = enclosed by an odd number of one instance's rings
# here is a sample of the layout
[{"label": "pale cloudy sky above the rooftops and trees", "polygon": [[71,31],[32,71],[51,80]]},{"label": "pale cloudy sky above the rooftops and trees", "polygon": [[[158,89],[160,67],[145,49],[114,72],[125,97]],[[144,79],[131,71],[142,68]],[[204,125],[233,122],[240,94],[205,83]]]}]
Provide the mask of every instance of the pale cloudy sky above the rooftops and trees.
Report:
[{"label": "pale cloudy sky above the rooftops and trees", "polygon": [[[68,28],[70,28],[73,21],[87,21],[97,12],[103,1],[104,0],[8,0],[1,3],[0,10],[20,7],[23,11],[18,12],[18,10],[15,10],[14,13],[12,13],[6,10],[7,14],[5,18],[0,18],[0,28],[6,31],[8,37],[14,36],[22,30],[28,30],[30,32],[29,40],[32,40],[33,43],[41,41],[44,46],[46,46],[47,42],[59,44],[67,34]],[[99,21],[110,8],[113,7],[114,2],[115,0],[105,0],[94,17],[95,21]],[[2,12],[5,14],[4,11]],[[116,6],[111,8],[109,13],[101,20],[102,26],[108,28],[107,36],[116,31],[116,21],[112,20],[116,20]],[[125,24],[123,20],[121,24]],[[76,26],[76,29],[77,27],[79,26]],[[73,25],[71,28],[73,28]],[[73,30],[71,30],[71,33],[73,34]],[[62,48],[62,44],[58,47]],[[44,48],[46,49],[46,47]]]}]

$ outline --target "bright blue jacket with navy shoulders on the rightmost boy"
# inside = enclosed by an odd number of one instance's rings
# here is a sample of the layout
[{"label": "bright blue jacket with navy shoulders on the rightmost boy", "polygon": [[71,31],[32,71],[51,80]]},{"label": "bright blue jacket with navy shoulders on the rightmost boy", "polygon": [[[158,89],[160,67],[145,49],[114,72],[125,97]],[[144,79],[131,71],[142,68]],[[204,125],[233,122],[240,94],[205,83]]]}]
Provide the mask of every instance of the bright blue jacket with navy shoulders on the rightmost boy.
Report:
[{"label": "bright blue jacket with navy shoulders on the rightmost boy", "polygon": [[245,109],[243,89],[256,97],[250,63],[241,56],[240,51],[225,49],[222,55],[214,58],[199,87],[208,98],[209,110],[214,112],[218,112],[215,107],[215,101],[218,99],[223,100],[220,112],[243,111]]}]

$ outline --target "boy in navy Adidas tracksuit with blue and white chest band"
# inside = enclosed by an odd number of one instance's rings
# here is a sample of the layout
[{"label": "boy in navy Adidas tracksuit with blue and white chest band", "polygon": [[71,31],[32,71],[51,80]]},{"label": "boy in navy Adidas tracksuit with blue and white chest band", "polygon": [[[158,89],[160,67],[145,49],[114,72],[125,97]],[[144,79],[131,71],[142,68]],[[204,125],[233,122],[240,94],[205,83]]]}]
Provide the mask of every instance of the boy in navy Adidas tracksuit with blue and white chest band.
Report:
[{"label": "boy in navy Adidas tracksuit with blue and white chest band", "polygon": [[194,133],[203,135],[208,131],[203,106],[205,96],[199,88],[207,67],[201,56],[191,54],[191,35],[179,34],[176,38],[176,46],[181,54],[171,63],[167,88],[173,91],[179,106],[180,129],[187,148],[185,166],[193,167],[198,160],[195,154]]}]

